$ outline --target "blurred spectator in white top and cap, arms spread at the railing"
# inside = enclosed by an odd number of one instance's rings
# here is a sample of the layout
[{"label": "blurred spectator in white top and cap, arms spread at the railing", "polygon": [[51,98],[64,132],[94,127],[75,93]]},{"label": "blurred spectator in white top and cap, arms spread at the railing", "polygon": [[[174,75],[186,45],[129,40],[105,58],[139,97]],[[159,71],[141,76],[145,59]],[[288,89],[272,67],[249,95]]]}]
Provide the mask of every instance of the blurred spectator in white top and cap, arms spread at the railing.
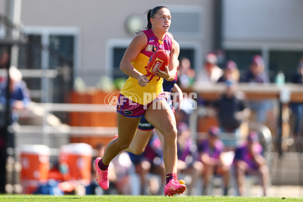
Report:
[{"label": "blurred spectator in white top and cap, arms spread at the railing", "polygon": [[206,55],[203,69],[196,76],[197,82],[216,83],[223,75],[223,70],[217,66],[217,56],[214,53]]}]

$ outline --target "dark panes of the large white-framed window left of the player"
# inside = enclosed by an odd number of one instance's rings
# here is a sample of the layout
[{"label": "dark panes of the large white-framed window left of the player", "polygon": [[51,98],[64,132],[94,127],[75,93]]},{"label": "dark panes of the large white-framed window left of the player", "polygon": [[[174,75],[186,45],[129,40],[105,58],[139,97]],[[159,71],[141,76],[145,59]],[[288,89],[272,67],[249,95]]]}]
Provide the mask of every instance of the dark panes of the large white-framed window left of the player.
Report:
[{"label": "dark panes of the large white-framed window left of the player", "polygon": [[[19,46],[19,69],[42,69],[42,51],[48,52],[48,69],[56,70],[57,77],[49,78],[50,102],[67,102],[66,94],[73,88],[74,66],[74,36],[73,35],[49,35],[49,46],[42,47],[41,35],[27,35],[28,42]],[[41,75],[42,76],[42,75]],[[31,90],[33,101],[41,102],[41,78],[23,78]]]}]

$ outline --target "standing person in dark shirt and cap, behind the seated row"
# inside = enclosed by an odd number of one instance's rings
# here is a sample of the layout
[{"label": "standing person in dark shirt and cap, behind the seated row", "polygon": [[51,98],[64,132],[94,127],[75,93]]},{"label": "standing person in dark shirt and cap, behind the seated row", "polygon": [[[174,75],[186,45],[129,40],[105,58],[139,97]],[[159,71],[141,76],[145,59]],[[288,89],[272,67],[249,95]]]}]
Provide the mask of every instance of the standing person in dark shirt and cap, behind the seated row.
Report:
[{"label": "standing person in dark shirt and cap, behind the seated row", "polygon": [[226,88],[214,103],[214,108],[221,132],[223,132],[221,140],[226,150],[233,150],[240,140],[239,127],[250,115],[250,110],[247,107],[244,93],[237,90],[236,82],[226,80],[225,85]]}]

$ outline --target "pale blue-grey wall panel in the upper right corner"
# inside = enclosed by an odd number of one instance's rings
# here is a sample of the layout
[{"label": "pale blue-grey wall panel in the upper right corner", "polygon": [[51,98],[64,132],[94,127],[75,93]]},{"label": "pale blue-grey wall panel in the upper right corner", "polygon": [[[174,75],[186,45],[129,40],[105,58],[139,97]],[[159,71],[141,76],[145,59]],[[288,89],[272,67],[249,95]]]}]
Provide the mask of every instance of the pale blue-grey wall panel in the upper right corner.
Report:
[{"label": "pale blue-grey wall panel in the upper right corner", "polygon": [[303,40],[302,0],[223,0],[223,39]]}]

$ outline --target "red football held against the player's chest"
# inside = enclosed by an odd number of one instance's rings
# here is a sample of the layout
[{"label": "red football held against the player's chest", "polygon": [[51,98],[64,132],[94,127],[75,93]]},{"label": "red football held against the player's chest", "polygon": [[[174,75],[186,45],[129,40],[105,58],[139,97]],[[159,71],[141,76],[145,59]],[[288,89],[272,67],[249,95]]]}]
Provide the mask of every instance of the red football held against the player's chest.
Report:
[{"label": "red football held against the player's chest", "polygon": [[169,64],[169,54],[160,49],[150,56],[147,63],[147,71],[151,74],[157,74],[158,70],[165,71],[165,66]]}]

